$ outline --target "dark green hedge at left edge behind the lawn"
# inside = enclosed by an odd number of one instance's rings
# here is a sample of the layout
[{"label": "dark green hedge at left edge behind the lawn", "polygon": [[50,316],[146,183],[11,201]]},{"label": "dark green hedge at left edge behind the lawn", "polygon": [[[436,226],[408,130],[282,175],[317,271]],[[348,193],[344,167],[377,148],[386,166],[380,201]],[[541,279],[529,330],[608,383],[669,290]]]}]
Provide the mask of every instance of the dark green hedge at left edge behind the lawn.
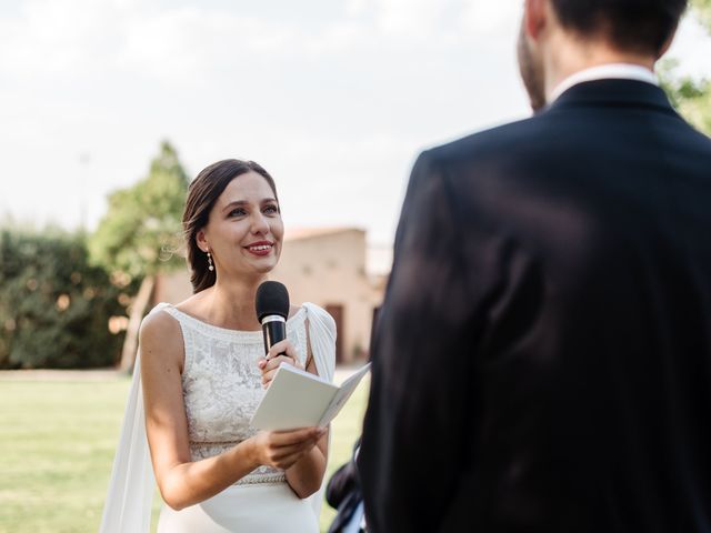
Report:
[{"label": "dark green hedge at left edge behind the lawn", "polygon": [[116,364],[120,290],[88,262],[81,233],[0,230],[0,369]]}]

